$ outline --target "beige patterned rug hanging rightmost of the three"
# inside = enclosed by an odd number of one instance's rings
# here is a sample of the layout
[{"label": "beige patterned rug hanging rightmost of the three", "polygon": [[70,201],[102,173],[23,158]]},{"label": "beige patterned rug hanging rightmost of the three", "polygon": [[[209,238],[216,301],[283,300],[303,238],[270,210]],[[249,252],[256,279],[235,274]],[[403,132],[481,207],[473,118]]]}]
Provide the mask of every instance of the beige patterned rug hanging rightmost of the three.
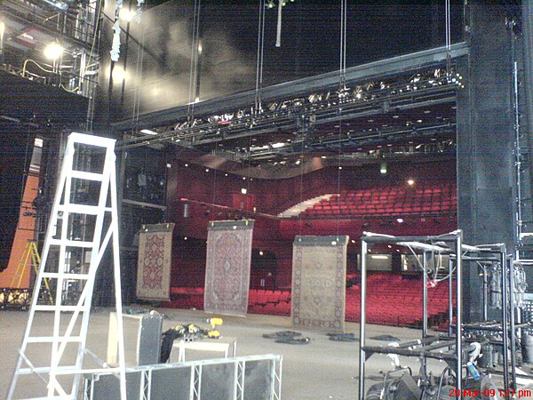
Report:
[{"label": "beige patterned rug hanging rightmost of the three", "polygon": [[296,236],[292,247],[293,326],[344,332],[348,236]]}]

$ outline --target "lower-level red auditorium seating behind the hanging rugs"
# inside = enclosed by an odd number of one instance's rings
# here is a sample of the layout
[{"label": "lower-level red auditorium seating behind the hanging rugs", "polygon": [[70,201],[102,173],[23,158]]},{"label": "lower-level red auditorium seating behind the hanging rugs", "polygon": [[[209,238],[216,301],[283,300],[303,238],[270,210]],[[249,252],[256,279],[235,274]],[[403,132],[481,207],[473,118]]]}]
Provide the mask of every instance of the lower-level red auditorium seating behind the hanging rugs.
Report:
[{"label": "lower-level red auditorium seating behind the hanging rugs", "polygon": [[[346,289],[346,321],[359,322],[361,317],[361,283],[358,274],[347,276],[356,284]],[[448,282],[427,290],[428,322],[443,325],[448,318]],[[367,276],[367,323],[394,326],[422,325],[422,279],[389,273]],[[455,300],[454,300],[455,304]],[[203,309],[203,288],[171,288],[171,301],[163,307]],[[290,316],[289,290],[251,289],[248,312],[273,316]]]}]

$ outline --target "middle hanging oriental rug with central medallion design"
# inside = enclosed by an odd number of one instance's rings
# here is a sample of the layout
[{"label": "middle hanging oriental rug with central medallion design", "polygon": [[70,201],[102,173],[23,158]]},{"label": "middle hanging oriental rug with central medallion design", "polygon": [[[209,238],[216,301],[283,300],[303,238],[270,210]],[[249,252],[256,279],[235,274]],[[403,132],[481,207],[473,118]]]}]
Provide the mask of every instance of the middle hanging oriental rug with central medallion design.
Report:
[{"label": "middle hanging oriental rug with central medallion design", "polygon": [[246,315],[253,223],[254,220],[217,220],[209,223],[203,297],[205,312]]}]

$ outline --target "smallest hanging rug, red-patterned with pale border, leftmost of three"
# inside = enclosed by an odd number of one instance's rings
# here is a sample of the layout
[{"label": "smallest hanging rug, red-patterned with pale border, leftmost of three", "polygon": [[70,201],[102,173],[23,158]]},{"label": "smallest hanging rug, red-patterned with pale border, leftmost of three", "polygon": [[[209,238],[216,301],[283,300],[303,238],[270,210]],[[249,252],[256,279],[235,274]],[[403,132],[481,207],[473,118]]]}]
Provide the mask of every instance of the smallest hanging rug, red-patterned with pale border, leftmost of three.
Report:
[{"label": "smallest hanging rug, red-patterned with pale border, leftmost of three", "polygon": [[139,232],[137,298],[170,300],[174,224],[143,225]]}]

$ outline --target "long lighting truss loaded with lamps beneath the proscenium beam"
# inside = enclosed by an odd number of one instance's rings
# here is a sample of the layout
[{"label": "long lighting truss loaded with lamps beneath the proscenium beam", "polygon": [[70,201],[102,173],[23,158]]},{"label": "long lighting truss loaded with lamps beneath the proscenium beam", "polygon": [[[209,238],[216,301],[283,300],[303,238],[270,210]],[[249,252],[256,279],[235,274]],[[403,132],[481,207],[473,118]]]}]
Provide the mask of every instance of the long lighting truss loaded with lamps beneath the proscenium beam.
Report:
[{"label": "long lighting truss loaded with lamps beneath the proscenium beam", "polygon": [[[301,143],[301,140],[306,140],[306,136],[309,136],[310,129],[321,124],[374,116],[390,110],[449,103],[455,100],[457,89],[465,87],[462,80],[463,77],[453,70],[447,73],[442,68],[433,68],[407,78],[397,76],[364,84],[346,83],[335,89],[274,100],[266,103],[265,107],[252,106],[207,116],[183,118],[171,125],[151,128],[156,134],[150,137],[136,135],[122,140],[117,144],[117,148],[134,148],[161,142],[196,148],[280,129],[294,130],[299,140],[294,140],[293,144]],[[302,126],[305,129],[302,129]],[[403,131],[412,132],[412,129]],[[351,144],[358,139],[366,140],[369,136],[376,135],[381,135],[383,139],[383,132],[370,135],[364,132],[361,138],[358,138],[357,134],[348,135],[348,132],[345,132],[340,140],[329,140],[328,143],[337,145],[340,141]]]}]

